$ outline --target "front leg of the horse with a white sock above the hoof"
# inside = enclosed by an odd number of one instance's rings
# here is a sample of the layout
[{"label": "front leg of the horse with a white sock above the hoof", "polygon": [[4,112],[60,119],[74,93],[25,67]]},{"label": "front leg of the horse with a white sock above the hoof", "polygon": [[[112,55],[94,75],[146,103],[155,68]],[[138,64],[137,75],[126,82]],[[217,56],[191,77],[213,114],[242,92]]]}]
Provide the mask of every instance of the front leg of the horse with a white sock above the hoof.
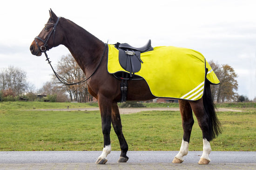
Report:
[{"label": "front leg of the horse with a white sock above the hoof", "polygon": [[101,112],[101,128],[104,139],[103,151],[96,161],[96,164],[106,164],[108,161],[107,156],[111,152],[110,144],[110,130],[111,130],[111,112],[112,112],[112,101],[106,97],[99,97],[98,104]]}]

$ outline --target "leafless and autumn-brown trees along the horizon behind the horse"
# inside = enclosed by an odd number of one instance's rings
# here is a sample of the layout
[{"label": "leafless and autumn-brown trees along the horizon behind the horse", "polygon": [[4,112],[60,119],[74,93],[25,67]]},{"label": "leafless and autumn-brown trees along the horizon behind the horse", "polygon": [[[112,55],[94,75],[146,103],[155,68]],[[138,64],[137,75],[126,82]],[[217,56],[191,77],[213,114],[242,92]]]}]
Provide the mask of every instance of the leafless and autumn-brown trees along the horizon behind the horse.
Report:
[{"label": "leafless and autumn-brown trees along the horizon behind the horse", "polygon": [[[220,84],[211,86],[212,97],[215,102],[249,101],[247,96],[236,93],[238,88],[237,74],[231,66],[228,64],[220,65],[214,61],[210,61],[209,64],[220,80]],[[56,72],[68,82],[79,82],[86,77],[71,54],[61,57]],[[38,97],[38,94],[42,95]],[[45,82],[42,88],[35,92],[34,86],[27,82],[25,71],[13,66],[0,71],[0,101],[14,101],[19,98],[34,101],[42,100],[42,96],[46,96],[44,98],[53,102],[93,101],[93,97],[88,93],[87,82],[69,86],[59,82],[53,74],[51,81]]]}]

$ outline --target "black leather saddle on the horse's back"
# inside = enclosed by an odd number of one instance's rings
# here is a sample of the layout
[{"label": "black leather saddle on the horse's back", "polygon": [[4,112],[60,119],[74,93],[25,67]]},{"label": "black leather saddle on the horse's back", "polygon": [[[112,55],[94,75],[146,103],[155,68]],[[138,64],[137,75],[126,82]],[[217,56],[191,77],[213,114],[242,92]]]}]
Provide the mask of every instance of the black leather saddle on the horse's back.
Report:
[{"label": "black leather saddle on the horse's back", "polygon": [[119,63],[123,69],[130,72],[132,77],[134,73],[141,70],[141,53],[154,50],[151,46],[151,40],[141,48],[133,47],[127,43],[116,43],[115,48],[119,50]]}]

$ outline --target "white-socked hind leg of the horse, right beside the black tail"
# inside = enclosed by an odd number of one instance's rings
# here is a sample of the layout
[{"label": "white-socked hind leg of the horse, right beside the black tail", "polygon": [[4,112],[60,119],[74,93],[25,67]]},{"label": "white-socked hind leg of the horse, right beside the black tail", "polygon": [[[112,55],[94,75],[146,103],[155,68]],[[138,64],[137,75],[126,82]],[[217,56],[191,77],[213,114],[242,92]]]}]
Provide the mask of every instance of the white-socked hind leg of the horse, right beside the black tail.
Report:
[{"label": "white-socked hind leg of the horse, right beside the black tail", "polygon": [[202,99],[198,101],[189,101],[193,112],[196,116],[196,119],[198,121],[198,125],[200,126],[202,130],[202,139],[203,139],[203,152],[202,156],[198,162],[198,164],[209,164],[210,159],[209,159],[209,154],[211,151],[211,146],[209,141],[211,140],[211,135],[210,135],[210,126],[209,126],[209,116],[206,113],[204,106],[203,106],[203,101]]}]

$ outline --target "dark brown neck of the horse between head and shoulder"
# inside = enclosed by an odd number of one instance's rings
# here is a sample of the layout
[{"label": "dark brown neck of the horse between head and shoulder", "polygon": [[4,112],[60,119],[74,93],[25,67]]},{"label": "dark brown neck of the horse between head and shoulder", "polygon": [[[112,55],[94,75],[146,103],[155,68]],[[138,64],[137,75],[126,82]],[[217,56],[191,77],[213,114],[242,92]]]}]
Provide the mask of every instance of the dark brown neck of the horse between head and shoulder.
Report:
[{"label": "dark brown neck of the horse between head and shoulder", "polygon": [[67,22],[65,25],[71,24],[71,26],[66,26],[66,28],[63,27],[65,30],[65,42],[63,44],[71,52],[72,56],[86,75],[90,76],[97,63],[100,62],[104,43],[82,27],[74,24],[72,21],[67,19],[65,22]]}]

